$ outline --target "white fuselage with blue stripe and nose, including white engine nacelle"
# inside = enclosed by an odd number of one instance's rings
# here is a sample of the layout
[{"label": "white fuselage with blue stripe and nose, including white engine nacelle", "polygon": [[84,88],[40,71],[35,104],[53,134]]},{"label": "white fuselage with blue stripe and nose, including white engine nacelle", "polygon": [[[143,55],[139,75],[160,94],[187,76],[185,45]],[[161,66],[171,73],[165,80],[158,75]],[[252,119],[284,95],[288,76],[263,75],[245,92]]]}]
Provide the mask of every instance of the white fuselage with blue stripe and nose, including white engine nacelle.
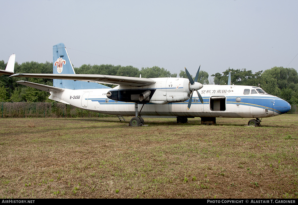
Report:
[{"label": "white fuselage with blue stripe and nose, including white engine nacelle", "polygon": [[[156,79],[155,79],[156,80]],[[163,117],[227,117],[266,118],[280,115],[291,109],[281,98],[262,93],[259,87],[237,85],[204,85],[199,93],[204,103],[198,100],[196,92],[190,109],[187,109],[190,90],[188,79],[159,78],[153,85],[143,87],[117,86],[107,89],[70,90],[50,92],[50,99],[71,104],[94,112],[110,115],[135,115],[134,102],[114,101],[107,97],[111,90],[142,89],[154,90],[150,101],[144,107],[138,106],[141,116]]]}]

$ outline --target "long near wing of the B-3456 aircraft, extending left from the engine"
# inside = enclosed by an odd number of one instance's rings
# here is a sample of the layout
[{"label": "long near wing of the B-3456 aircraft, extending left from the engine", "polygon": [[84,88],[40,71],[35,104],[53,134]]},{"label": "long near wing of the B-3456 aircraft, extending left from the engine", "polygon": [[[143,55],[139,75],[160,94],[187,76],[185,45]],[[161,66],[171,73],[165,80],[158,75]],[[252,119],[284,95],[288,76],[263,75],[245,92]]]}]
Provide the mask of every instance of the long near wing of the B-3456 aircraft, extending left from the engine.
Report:
[{"label": "long near wing of the B-3456 aircraft, extending left from the engine", "polygon": [[17,73],[10,77],[25,78],[45,78],[62,80],[79,80],[86,82],[126,85],[126,86],[145,86],[155,83],[155,80],[149,78],[136,78],[126,76],[92,75],[92,74],[40,74],[40,73]]}]

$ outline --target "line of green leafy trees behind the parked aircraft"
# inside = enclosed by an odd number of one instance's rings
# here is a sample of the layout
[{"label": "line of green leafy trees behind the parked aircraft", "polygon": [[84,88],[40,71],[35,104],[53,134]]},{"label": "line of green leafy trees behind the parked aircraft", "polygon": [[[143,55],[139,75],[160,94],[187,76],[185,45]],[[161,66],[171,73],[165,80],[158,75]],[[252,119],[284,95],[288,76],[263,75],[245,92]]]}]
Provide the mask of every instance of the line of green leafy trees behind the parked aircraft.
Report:
[{"label": "line of green leafy trees behind the parked aircraft", "polygon": [[[5,70],[7,63],[0,61],[0,69]],[[52,73],[52,62],[15,62],[15,73]],[[177,77],[177,73],[171,73],[164,68],[153,66],[139,70],[131,65],[90,65],[84,64],[79,68],[74,67],[77,74],[103,74],[116,76],[130,76],[142,78]],[[274,67],[265,71],[252,73],[244,69],[227,69],[222,73],[215,73],[214,84],[227,84],[229,72],[231,82],[235,85],[250,85],[262,87],[267,93],[283,98],[292,106],[298,104],[298,74],[294,68]],[[187,78],[184,70],[181,70],[179,77]],[[209,74],[200,71],[198,82],[209,84]],[[36,82],[46,85],[53,85],[52,79],[35,78],[8,78],[7,75],[0,77],[0,101],[2,102],[51,102],[48,99],[49,93],[15,83],[19,80]],[[106,84],[109,87],[113,85]]]}]

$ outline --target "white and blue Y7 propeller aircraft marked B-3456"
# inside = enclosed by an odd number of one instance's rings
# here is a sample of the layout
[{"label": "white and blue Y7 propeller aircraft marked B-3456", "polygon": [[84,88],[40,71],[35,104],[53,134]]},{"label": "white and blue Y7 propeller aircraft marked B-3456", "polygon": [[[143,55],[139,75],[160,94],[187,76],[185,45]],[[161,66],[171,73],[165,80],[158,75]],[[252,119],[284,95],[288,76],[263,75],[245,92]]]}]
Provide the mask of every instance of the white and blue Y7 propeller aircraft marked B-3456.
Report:
[{"label": "white and blue Y7 propeller aircraft marked B-3456", "polygon": [[[200,68],[199,68],[200,69]],[[63,43],[53,46],[53,74],[12,76],[54,79],[48,86],[27,81],[17,83],[49,92],[49,99],[78,108],[109,115],[134,116],[130,126],[144,125],[145,117],[200,117],[202,124],[216,123],[216,118],[255,118],[250,126],[260,126],[259,118],[281,115],[291,105],[267,94],[260,87],[240,85],[202,85],[185,68],[186,78],[137,78],[108,75],[75,74]],[[116,84],[110,88],[100,83]],[[196,91],[196,92],[194,92]]]}]

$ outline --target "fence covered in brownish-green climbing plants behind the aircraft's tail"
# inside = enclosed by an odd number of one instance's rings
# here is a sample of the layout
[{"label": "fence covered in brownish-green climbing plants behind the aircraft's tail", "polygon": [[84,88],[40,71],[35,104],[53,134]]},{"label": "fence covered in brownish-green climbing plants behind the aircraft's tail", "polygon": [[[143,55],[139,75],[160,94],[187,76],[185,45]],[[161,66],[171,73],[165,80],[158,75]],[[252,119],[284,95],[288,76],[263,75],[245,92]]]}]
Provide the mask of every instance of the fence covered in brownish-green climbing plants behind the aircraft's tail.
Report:
[{"label": "fence covered in brownish-green climbing plants behind the aircraft's tail", "polygon": [[1,118],[94,118],[108,117],[59,102],[0,102]]}]

